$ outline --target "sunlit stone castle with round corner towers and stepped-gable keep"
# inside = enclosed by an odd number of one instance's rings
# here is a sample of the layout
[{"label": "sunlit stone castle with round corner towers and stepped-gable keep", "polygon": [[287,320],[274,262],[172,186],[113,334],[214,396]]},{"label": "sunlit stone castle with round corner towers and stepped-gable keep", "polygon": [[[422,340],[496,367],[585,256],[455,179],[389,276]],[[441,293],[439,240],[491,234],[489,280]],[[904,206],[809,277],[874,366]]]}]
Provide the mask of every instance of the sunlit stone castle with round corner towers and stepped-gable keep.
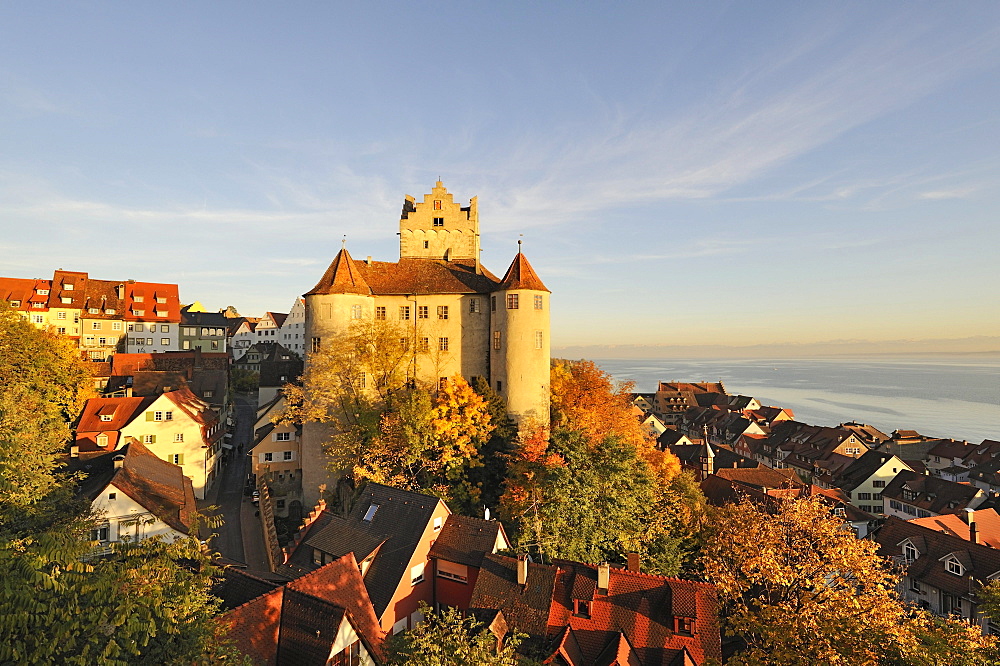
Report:
[{"label": "sunlit stone castle with round corner towers and stepped-gable keep", "polygon": [[[518,249],[503,278],[480,264],[479,212],[454,201],[438,181],[422,202],[407,195],[399,220],[399,261],[351,258],[343,248],[307,294],[306,364],[323,340],[353,321],[412,326],[412,373],[435,386],[461,374],[489,382],[519,424],[548,422],[549,290]],[[302,444],[304,503],[329,483],[321,443],[306,424]]]}]

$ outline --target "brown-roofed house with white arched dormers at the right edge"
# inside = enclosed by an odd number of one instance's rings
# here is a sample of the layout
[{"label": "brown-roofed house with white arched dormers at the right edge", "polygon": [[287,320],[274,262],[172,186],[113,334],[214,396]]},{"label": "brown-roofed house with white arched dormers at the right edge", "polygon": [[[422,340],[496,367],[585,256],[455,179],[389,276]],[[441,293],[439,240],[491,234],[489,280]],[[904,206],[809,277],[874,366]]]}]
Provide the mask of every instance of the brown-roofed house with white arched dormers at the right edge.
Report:
[{"label": "brown-roofed house with white arched dormers at the right edge", "polygon": [[1000,577],[1000,550],[890,516],[874,535],[879,554],[899,565],[899,593],[932,613],[989,629],[976,590]]}]

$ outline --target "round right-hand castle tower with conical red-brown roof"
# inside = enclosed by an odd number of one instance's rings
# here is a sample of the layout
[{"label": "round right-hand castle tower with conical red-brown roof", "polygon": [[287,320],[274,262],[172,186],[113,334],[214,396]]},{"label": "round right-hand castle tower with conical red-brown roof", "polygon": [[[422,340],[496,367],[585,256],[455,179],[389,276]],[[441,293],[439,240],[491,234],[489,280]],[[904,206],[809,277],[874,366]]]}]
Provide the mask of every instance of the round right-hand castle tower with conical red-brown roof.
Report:
[{"label": "round right-hand castle tower with conical red-brown roof", "polygon": [[490,296],[490,378],[518,422],[549,422],[549,296],[521,253]]}]

